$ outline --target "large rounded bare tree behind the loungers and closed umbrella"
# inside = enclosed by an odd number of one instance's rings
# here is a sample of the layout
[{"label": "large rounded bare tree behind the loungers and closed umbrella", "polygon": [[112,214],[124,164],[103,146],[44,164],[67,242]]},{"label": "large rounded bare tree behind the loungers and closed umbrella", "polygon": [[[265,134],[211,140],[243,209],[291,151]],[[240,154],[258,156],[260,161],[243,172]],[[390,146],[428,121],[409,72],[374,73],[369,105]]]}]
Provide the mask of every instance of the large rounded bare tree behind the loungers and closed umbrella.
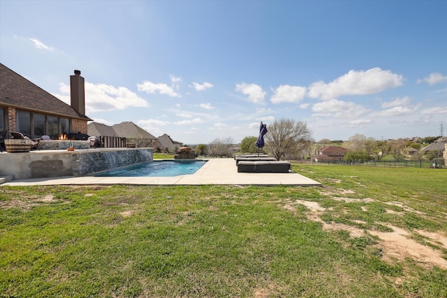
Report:
[{"label": "large rounded bare tree behind the loungers and closed umbrella", "polygon": [[277,160],[286,154],[295,154],[303,149],[303,144],[311,140],[311,131],[305,121],[292,119],[275,120],[265,134],[265,149]]}]

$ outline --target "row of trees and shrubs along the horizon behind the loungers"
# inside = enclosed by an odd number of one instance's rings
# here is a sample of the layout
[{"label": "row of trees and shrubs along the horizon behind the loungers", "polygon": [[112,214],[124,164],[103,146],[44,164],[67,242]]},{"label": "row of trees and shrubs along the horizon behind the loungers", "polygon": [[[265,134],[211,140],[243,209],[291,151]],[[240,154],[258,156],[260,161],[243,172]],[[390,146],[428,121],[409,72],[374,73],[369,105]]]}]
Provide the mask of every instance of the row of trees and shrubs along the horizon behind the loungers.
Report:
[{"label": "row of trees and shrubs along the horizon behind the loungers", "polygon": [[[277,160],[305,160],[318,154],[318,150],[326,146],[340,146],[348,149],[345,161],[381,161],[385,156],[392,156],[395,161],[402,161],[413,151],[411,158],[439,158],[439,152],[421,152],[419,149],[434,142],[439,137],[424,137],[418,141],[409,140],[375,140],[372,137],[356,134],[347,141],[322,139],[318,142],[312,138],[312,131],[305,121],[293,119],[277,119],[268,125],[268,133],[264,135],[265,147],[256,147],[257,136],[247,136],[240,142],[240,153],[260,153],[274,156]],[[231,157],[235,144],[231,137],[217,138],[210,144],[198,144],[195,147],[198,156]],[[441,154],[442,157],[442,154]]]}]

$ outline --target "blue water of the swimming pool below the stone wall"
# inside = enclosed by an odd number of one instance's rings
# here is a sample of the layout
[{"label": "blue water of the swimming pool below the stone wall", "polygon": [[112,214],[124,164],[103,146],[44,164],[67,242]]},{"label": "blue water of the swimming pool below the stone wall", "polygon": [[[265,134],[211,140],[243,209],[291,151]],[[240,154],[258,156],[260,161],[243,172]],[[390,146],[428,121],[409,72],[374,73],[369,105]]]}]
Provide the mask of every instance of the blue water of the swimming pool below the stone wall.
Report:
[{"label": "blue water of the swimming pool below the stone wall", "polygon": [[173,160],[153,161],[122,167],[94,175],[95,177],[173,177],[186,174],[194,174],[200,167],[205,165],[202,160]]}]

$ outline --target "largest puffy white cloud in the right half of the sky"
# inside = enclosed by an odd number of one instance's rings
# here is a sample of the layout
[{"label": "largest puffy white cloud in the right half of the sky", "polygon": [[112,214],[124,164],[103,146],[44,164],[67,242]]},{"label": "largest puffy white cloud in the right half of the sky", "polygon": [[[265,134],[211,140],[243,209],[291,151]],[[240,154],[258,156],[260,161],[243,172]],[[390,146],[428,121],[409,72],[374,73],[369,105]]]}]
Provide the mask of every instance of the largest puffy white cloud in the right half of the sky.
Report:
[{"label": "largest puffy white cloud in the right half of the sky", "polygon": [[390,70],[371,68],[369,70],[349,70],[332,82],[314,82],[309,86],[309,97],[330,100],[346,95],[376,94],[383,90],[402,86],[402,75]]}]

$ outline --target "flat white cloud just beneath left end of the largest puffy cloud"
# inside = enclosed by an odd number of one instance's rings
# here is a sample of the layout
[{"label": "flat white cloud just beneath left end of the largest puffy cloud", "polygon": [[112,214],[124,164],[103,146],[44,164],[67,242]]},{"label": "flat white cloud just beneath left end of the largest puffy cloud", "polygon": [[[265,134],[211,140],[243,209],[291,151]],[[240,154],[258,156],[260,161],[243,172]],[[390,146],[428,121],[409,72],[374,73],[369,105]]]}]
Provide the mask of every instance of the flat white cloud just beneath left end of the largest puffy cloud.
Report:
[{"label": "flat white cloud just beneath left end of the largest puffy cloud", "polygon": [[351,103],[348,101],[342,101],[337,99],[326,100],[321,103],[316,103],[312,107],[312,111],[316,114],[312,116],[323,117],[345,117],[356,118],[365,114],[367,110],[362,105]]}]

